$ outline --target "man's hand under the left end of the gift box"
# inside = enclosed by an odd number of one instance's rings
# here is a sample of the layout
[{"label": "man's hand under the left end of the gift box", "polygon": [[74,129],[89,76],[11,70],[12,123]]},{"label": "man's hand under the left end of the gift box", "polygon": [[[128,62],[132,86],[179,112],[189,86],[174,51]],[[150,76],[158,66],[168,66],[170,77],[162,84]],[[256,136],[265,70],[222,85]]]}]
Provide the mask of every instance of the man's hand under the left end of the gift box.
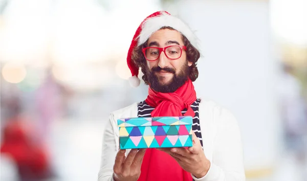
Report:
[{"label": "man's hand under the left end of the gift box", "polygon": [[141,175],[141,165],[146,149],[131,149],[127,157],[126,150],[119,150],[113,167],[115,181],[136,181]]}]

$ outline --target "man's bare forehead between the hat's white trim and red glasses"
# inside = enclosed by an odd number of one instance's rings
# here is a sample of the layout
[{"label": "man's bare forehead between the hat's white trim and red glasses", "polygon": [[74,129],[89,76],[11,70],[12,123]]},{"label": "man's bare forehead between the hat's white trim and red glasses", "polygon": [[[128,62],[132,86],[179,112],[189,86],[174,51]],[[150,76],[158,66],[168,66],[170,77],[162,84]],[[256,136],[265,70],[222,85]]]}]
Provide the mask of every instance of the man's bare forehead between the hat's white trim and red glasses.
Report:
[{"label": "man's bare forehead between the hat's white trim and red glasses", "polygon": [[163,46],[167,41],[177,41],[183,45],[181,33],[177,30],[170,29],[162,29],[152,33],[152,35],[148,38],[147,45],[153,41],[158,42],[161,46]]}]

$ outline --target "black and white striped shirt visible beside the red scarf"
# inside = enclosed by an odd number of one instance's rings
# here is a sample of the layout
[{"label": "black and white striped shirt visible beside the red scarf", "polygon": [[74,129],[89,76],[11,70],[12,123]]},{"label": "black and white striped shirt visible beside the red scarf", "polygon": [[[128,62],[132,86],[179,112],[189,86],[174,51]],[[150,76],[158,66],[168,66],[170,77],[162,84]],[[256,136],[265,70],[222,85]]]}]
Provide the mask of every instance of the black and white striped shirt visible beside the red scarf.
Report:
[{"label": "black and white striped shirt visible beside the red scarf", "polygon": [[[191,105],[191,108],[195,112],[195,116],[193,117],[192,130],[194,131],[196,137],[200,140],[203,147],[203,139],[201,133],[200,118],[199,118],[200,102],[201,102],[200,99],[196,99],[196,101],[194,101],[193,104]],[[148,105],[145,101],[140,102],[138,104],[138,117],[151,117],[150,113],[153,109],[155,108]],[[181,112],[182,114],[185,114],[186,111],[187,109],[184,109]]]}]

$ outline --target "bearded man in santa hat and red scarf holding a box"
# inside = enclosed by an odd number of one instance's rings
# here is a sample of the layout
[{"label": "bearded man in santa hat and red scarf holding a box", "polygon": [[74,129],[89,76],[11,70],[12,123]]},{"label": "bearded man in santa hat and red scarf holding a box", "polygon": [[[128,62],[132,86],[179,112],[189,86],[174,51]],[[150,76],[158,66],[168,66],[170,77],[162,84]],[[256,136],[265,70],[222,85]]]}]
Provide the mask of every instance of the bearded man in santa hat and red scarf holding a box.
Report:
[{"label": "bearded man in santa hat and red scarf holding a box", "polygon": [[[196,98],[197,38],[165,11],[138,28],[127,56],[134,85],[149,85],[145,101],[112,112],[105,128],[98,180],[245,180],[239,128],[230,111]],[[117,119],[192,116],[193,146],[119,150]]]}]

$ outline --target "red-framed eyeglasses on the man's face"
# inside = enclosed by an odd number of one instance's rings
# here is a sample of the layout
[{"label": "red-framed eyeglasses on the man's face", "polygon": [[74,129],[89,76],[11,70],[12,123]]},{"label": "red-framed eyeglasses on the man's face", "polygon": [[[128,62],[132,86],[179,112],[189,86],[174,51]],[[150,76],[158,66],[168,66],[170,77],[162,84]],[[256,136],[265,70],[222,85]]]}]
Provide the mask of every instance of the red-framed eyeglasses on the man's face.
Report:
[{"label": "red-framed eyeglasses on the man's face", "polygon": [[176,60],[181,57],[182,49],[187,50],[185,46],[168,46],[164,48],[146,47],[142,49],[142,52],[148,61],[158,60],[162,52],[168,59]]}]

